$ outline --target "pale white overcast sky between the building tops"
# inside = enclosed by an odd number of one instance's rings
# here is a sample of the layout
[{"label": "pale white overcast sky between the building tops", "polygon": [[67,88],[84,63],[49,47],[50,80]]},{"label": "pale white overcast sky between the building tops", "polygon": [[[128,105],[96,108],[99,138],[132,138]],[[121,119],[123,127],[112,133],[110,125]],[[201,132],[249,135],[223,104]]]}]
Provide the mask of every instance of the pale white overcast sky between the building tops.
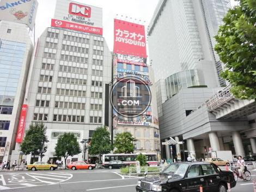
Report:
[{"label": "pale white overcast sky between the building tops", "polygon": [[[62,0],[66,1],[66,0]],[[113,19],[119,18],[145,24],[151,20],[159,0],[74,0],[103,9],[103,37],[109,49],[113,49]],[[35,21],[35,36],[38,38],[46,27],[51,26],[56,0],[38,0],[39,7]],[[234,5],[234,0],[231,0]],[[123,15],[123,17],[121,16]],[[139,21],[141,20],[141,21]],[[145,22],[144,22],[145,21]]]}]

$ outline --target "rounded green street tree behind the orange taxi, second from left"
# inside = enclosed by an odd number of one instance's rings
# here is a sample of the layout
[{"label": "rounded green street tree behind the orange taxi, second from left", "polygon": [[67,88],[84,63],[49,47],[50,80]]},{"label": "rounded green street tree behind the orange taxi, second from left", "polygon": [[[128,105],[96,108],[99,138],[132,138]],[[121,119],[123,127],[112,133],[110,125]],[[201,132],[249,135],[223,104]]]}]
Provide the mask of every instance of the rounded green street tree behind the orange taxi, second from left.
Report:
[{"label": "rounded green street tree behind the orange taxi, second from left", "polygon": [[64,157],[66,168],[66,159],[68,159],[69,156],[75,156],[76,154],[81,153],[75,134],[64,133],[60,135],[55,147],[55,153],[58,157]]}]

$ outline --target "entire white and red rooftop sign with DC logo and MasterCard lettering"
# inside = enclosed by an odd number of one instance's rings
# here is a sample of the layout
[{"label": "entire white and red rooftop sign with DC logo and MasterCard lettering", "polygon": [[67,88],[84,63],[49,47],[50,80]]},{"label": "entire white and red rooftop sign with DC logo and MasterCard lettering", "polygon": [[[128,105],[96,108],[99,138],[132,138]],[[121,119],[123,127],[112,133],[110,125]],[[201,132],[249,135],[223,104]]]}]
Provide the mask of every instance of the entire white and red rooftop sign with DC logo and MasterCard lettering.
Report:
[{"label": "entire white and red rooftop sign with DC logo and MasterCard lettering", "polygon": [[102,8],[57,0],[52,27],[102,35]]}]

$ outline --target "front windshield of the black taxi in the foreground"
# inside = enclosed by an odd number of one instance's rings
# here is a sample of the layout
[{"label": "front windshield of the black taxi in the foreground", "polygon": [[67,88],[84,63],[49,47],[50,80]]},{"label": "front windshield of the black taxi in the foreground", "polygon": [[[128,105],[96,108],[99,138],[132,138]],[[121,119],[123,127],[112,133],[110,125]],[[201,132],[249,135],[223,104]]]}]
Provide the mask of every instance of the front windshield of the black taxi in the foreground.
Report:
[{"label": "front windshield of the black taxi in the foreground", "polygon": [[167,175],[179,175],[184,177],[188,168],[186,163],[174,163],[170,164],[166,169],[164,169],[161,174]]}]

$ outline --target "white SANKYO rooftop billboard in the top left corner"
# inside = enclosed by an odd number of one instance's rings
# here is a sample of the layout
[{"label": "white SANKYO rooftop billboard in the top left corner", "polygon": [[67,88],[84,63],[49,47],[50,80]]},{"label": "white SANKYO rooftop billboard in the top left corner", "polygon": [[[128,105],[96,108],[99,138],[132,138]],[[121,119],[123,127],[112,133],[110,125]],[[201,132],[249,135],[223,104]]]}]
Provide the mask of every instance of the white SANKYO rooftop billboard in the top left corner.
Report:
[{"label": "white SANKYO rooftop billboard in the top left corner", "polygon": [[33,30],[38,2],[36,0],[0,1],[0,20],[24,23]]}]

